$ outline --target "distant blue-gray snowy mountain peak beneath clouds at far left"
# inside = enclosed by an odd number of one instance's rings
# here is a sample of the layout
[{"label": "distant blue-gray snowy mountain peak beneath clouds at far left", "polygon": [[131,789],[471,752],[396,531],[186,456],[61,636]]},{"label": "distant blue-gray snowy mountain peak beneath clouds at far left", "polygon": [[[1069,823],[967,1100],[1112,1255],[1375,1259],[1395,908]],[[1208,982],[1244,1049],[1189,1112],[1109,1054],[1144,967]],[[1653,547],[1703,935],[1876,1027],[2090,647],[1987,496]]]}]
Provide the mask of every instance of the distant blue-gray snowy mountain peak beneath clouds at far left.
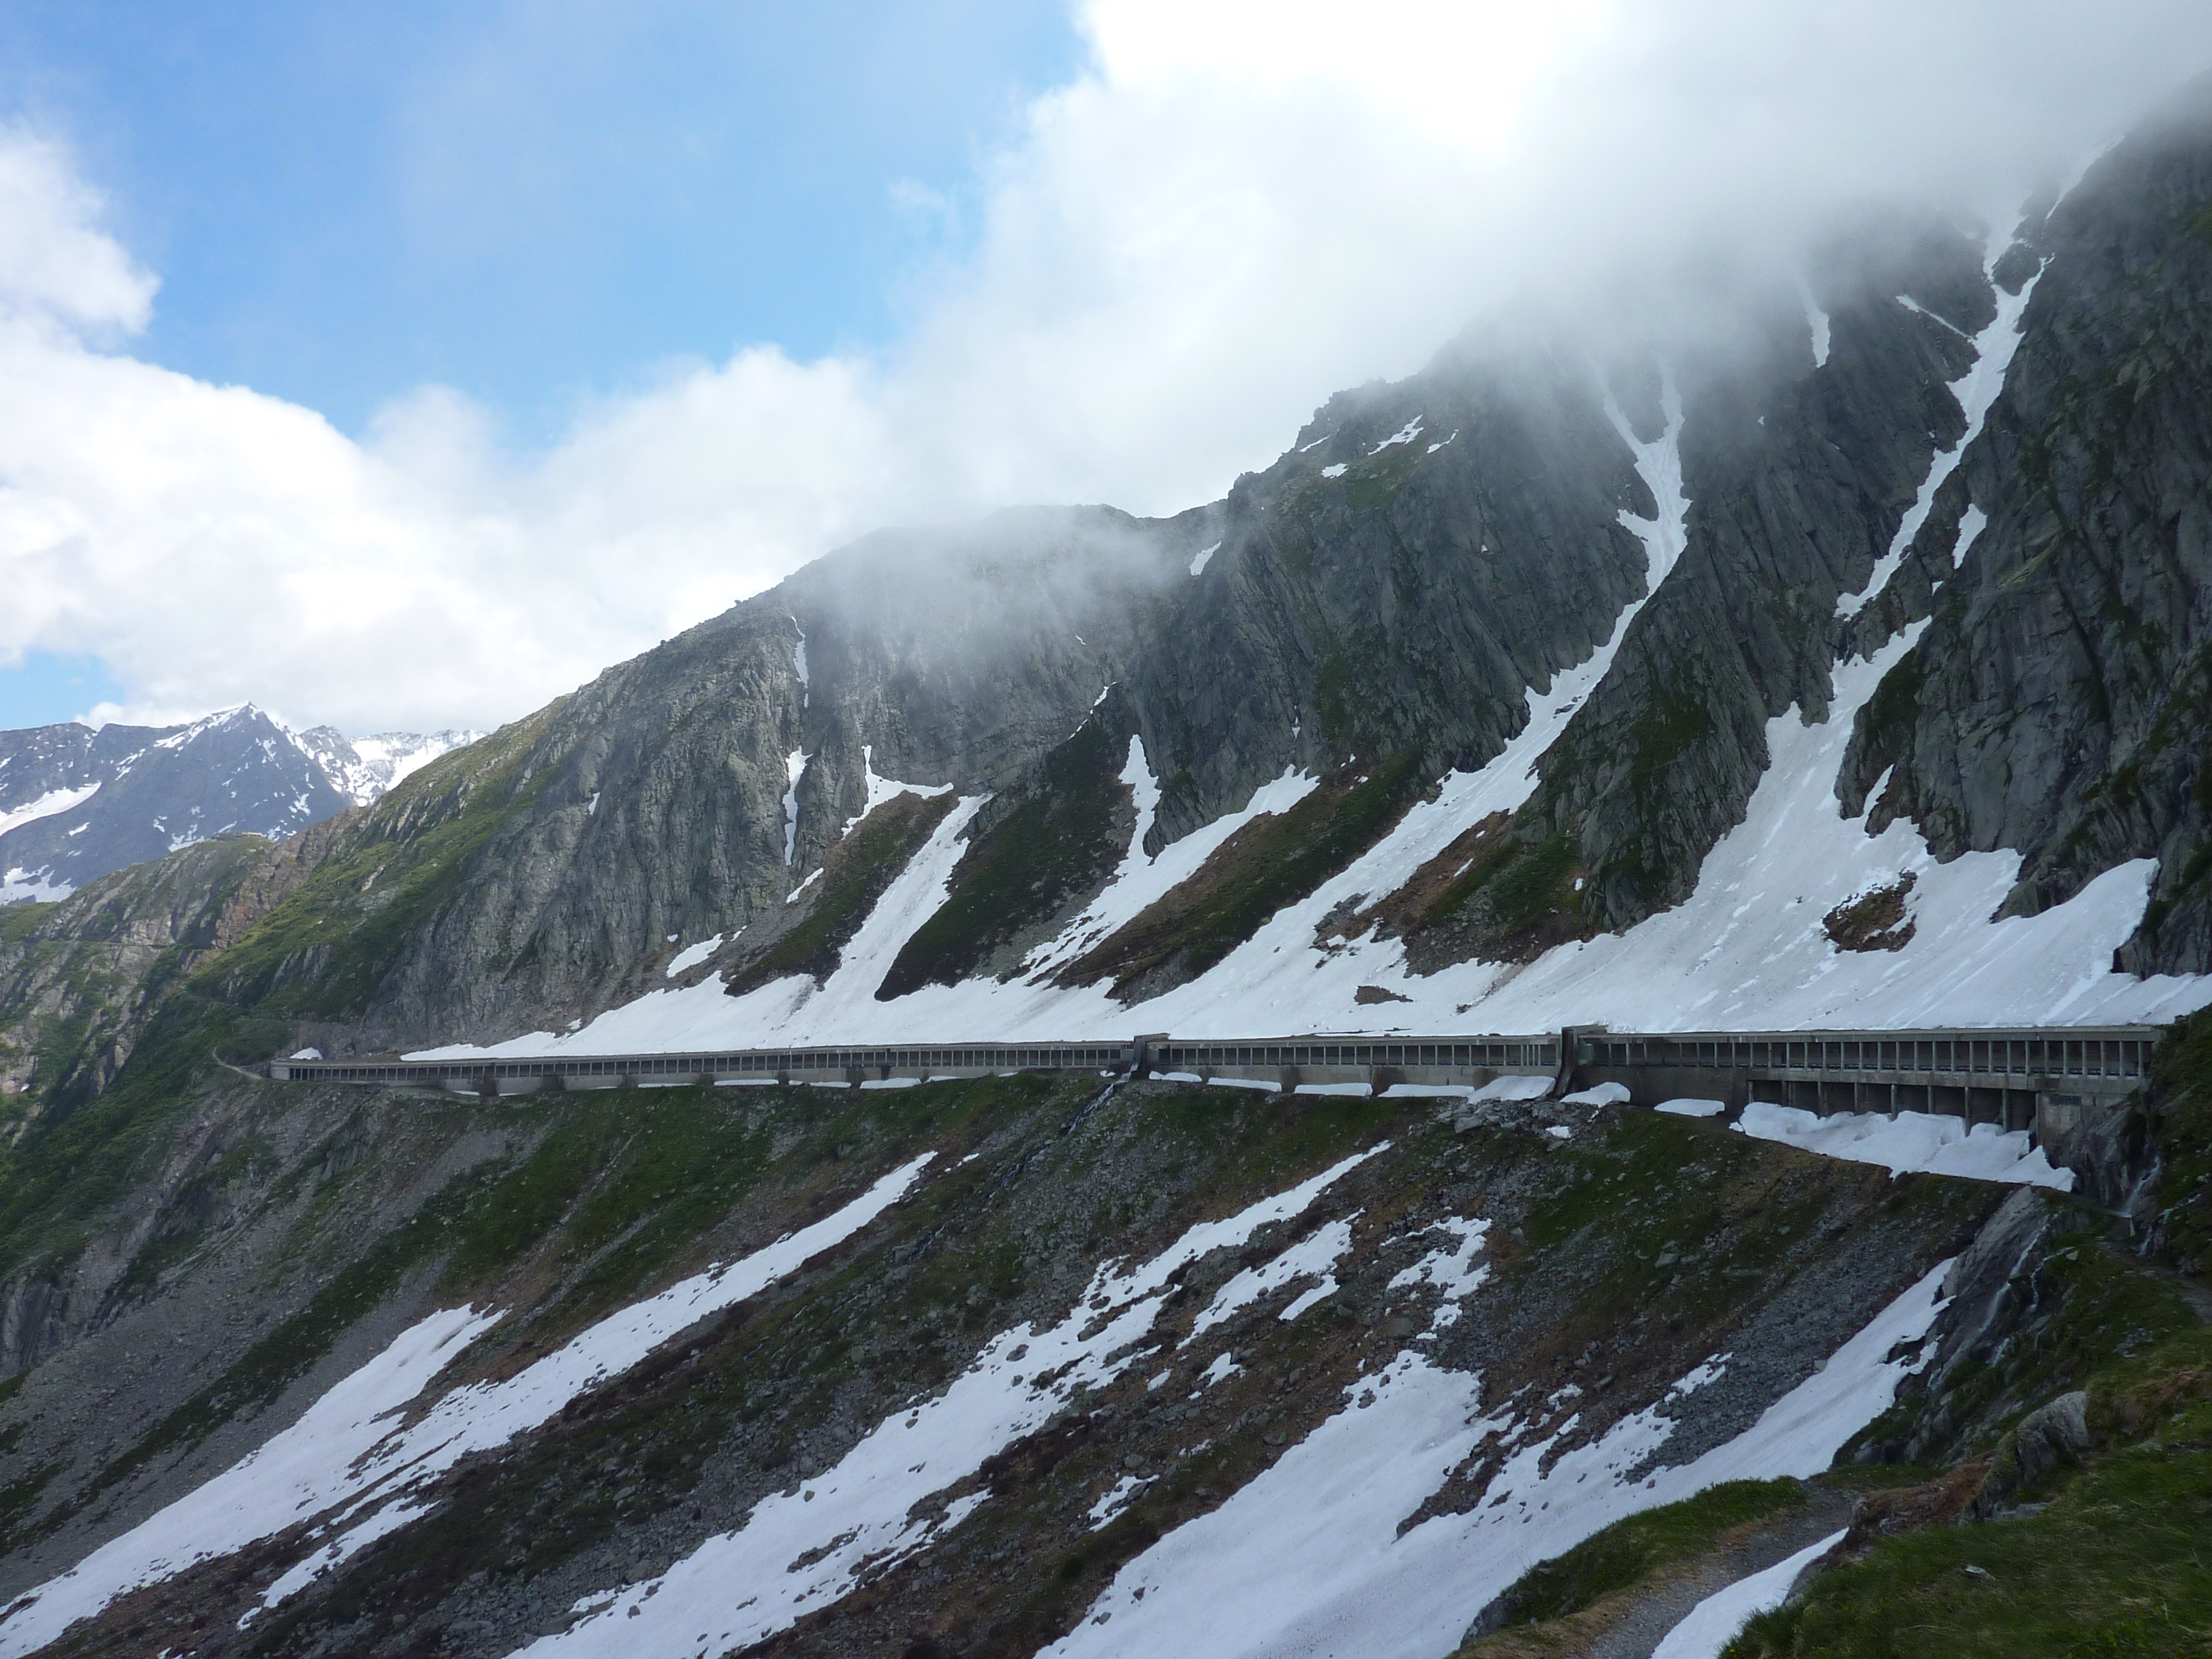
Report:
[{"label": "distant blue-gray snowy mountain peak beneath clouds at far left", "polygon": [[190,726],[0,732],[0,902],[64,898],[212,836],[283,841],[476,737],[294,734],[252,703]]}]

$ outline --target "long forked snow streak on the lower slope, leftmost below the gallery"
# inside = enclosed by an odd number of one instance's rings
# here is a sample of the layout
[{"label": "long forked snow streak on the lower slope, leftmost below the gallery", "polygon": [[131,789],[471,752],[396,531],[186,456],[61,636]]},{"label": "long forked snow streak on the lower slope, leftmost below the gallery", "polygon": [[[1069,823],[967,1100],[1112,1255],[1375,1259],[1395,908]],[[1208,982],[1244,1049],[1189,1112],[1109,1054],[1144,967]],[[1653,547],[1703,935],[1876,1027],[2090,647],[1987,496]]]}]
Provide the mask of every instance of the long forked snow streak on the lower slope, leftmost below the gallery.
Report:
[{"label": "long forked snow streak on the lower slope, leftmost below the gallery", "polygon": [[316,1528],[327,1542],[265,1593],[263,1606],[274,1606],[323,1566],[422,1513],[407,1502],[407,1493],[471,1451],[535,1429],[577,1394],[637,1365],[677,1332],[745,1301],[860,1232],[914,1188],[931,1157],[922,1155],[891,1170],[845,1208],[750,1256],[708,1267],[659,1296],[608,1314],[504,1383],[471,1383],[436,1400],[418,1420],[398,1422],[396,1413],[491,1329],[500,1314],[447,1307],[418,1321],[268,1444],[31,1590],[0,1619],[0,1657],[44,1648],[126,1590],[272,1537],[296,1522],[332,1515]]}]

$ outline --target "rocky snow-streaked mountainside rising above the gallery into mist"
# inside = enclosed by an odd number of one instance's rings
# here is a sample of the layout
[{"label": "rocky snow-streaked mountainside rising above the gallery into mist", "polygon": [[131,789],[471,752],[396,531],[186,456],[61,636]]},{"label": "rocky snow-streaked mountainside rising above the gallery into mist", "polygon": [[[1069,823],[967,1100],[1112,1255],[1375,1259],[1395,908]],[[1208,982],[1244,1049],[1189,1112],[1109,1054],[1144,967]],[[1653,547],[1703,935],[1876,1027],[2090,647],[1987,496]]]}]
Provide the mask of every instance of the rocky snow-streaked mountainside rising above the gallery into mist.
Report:
[{"label": "rocky snow-streaked mountainside rising above the gallery into mist", "polygon": [[869,538],[378,801],[226,995],[511,1053],[2170,1018],[2208,168],[2199,100],[1995,232],[1491,319],[1177,518]]}]

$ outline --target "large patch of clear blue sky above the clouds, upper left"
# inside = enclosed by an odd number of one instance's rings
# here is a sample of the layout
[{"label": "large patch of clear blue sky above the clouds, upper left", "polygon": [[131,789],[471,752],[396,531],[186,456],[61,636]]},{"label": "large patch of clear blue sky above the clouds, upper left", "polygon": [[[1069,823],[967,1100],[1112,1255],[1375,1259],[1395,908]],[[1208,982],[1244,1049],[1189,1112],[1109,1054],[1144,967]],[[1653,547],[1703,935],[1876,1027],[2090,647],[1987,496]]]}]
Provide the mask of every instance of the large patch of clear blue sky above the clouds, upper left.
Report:
[{"label": "large patch of clear blue sky above the clouds, upper left", "polygon": [[159,272],[137,356],[531,442],[668,358],[880,345],[1077,58],[1053,0],[11,0],[0,111]]}]

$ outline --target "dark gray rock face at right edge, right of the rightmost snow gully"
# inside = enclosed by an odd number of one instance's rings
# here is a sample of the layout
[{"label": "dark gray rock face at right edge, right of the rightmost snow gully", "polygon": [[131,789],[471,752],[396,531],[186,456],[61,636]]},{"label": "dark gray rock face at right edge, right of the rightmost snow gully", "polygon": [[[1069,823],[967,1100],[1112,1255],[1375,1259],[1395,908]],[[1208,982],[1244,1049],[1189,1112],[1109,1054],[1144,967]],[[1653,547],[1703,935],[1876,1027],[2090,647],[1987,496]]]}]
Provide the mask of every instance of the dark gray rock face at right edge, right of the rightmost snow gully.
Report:
[{"label": "dark gray rock face at right edge, right of the rightmost snow gully", "polygon": [[[1931,513],[1896,619],[1931,615],[1845,770],[1871,823],[2024,854],[2013,914],[2157,858],[2135,973],[2212,969],[2212,91],[2110,150],[2048,250],[1989,429]],[[1953,573],[1966,507],[1986,529]]]}]

